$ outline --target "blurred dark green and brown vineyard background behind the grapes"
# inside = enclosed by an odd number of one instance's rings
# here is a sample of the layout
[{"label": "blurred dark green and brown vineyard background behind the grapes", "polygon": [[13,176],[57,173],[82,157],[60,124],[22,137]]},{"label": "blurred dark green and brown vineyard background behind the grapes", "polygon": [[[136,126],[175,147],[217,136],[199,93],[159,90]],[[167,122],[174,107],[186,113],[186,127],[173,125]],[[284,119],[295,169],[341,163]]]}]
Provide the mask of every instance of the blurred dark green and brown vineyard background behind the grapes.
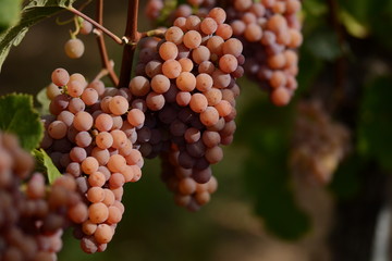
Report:
[{"label": "blurred dark green and brown vineyard background behind the grapes", "polygon": [[[119,36],[124,7],[106,1],[105,25]],[[107,251],[85,254],[68,232],[60,261],[391,260],[392,1],[303,7],[295,98],[275,108],[257,84],[240,80],[237,132],[213,166],[211,202],[197,213],[177,208],[159,160],[146,160],[143,178],[125,186],[125,214]],[[85,13],[94,17],[94,4]],[[56,17],[34,26],[2,67],[0,95],[36,95],[57,67],[94,78],[101,66],[96,39],[82,36],[85,54],[70,60],[70,29]],[[107,45],[119,72],[122,48]]]}]

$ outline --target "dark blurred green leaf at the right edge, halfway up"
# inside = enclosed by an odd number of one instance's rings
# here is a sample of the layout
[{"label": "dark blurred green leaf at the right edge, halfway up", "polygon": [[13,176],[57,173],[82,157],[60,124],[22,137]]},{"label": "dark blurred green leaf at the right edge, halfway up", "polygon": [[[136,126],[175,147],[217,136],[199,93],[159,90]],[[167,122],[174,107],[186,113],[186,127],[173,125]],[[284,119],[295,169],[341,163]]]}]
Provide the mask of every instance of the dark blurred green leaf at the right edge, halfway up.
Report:
[{"label": "dark blurred green leaf at the right edge, halfway up", "polygon": [[366,86],[360,104],[357,149],[392,170],[392,78],[380,77]]}]

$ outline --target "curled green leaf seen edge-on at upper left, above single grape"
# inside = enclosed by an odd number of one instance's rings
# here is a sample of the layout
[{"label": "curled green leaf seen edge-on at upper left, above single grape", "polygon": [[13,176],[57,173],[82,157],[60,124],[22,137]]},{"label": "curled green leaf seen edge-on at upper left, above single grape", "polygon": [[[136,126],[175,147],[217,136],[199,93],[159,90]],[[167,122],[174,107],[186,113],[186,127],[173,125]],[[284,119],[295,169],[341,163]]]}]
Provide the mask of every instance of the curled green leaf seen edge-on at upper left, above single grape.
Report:
[{"label": "curled green leaf seen edge-on at upper left, above single grape", "polygon": [[[47,18],[65,8],[75,0],[34,0],[29,1],[22,10],[22,17],[17,25],[9,28],[0,35],[0,72],[12,46],[17,46],[28,28],[39,21]],[[49,37],[49,36],[48,36]]]}]

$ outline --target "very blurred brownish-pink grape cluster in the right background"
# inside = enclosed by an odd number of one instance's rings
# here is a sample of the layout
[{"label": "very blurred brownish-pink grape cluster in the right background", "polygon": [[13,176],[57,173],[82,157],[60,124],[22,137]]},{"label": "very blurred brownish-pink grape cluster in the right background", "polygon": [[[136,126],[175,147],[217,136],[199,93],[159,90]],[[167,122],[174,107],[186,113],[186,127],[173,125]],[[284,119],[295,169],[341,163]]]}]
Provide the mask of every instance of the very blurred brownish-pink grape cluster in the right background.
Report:
[{"label": "very blurred brownish-pink grape cluster in the right background", "polygon": [[299,103],[297,111],[291,150],[293,172],[328,184],[350,151],[350,130],[332,121],[318,100]]}]

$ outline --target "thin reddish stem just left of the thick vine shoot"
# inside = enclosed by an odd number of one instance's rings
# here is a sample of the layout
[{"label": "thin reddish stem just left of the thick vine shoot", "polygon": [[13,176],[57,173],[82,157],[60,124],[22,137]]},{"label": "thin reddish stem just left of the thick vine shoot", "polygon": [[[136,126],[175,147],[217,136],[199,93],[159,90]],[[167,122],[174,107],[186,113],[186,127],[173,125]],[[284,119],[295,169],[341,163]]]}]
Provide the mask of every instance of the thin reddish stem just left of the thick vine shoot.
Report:
[{"label": "thin reddish stem just left of the thick vine shoot", "polygon": [[[97,21],[98,24],[103,24],[103,0],[97,1]],[[107,73],[109,74],[109,77],[114,86],[119,84],[119,77],[117,76],[114,70],[113,70],[113,62],[109,61],[107,47],[105,45],[105,38],[101,30],[98,30],[97,34],[97,42],[98,42],[98,49],[101,57],[101,63],[102,67],[106,69]]]}]

